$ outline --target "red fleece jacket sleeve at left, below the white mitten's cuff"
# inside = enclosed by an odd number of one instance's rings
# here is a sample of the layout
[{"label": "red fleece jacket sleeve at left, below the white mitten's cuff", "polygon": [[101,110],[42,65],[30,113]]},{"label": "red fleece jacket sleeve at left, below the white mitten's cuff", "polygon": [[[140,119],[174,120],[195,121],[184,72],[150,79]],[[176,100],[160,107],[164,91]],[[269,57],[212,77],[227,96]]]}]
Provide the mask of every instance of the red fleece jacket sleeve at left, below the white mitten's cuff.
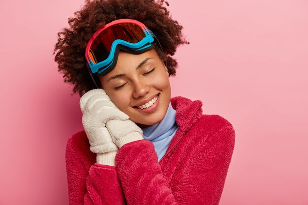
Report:
[{"label": "red fleece jacket sleeve at left, below the white mitten's cuff", "polygon": [[89,154],[94,153],[68,140],[65,160],[69,205],[125,205],[116,168],[93,164]]}]

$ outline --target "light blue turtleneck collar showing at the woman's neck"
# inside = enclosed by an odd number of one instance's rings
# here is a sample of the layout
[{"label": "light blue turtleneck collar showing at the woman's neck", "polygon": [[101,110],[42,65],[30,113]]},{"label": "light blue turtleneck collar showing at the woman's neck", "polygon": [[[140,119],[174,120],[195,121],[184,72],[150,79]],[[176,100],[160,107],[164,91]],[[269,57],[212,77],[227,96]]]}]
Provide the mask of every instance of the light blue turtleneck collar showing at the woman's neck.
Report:
[{"label": "light blue turtleneck collar showing at the woman's neck", "polygon": [[158,161],[166,153],[171,139],[179,128],[175,121],[175,114],[176,111],[172,108],[171,103],[169,103],[167,113],[160,122],[142,128],[143,138],[154,144]]}]

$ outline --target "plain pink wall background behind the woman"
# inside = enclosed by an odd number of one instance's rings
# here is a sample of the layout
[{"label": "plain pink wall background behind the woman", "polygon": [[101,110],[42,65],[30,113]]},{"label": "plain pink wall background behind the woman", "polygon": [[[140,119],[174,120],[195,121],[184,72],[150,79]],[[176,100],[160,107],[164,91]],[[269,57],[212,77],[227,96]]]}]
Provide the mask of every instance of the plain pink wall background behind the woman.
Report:
[{"label": "plain pink wall background behind the woman", "polygon": [[[172,96],[236,130],[220,205],[308,205],[308,2],[168,1],[190,41]],[[68,204],[66,140],[83,127],[52,52],[82,4],[0,0],[0,205]]]}]

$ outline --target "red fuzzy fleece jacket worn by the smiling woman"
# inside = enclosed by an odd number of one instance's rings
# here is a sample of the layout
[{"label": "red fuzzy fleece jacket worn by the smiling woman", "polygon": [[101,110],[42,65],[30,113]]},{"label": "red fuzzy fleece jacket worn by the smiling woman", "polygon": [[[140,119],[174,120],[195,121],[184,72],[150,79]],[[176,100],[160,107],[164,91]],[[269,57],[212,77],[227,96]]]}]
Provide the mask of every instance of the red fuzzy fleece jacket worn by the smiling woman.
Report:
[{"label": "red fuzzy fleece jacket worn by the smiling woman", "polygon": [[218,205],[235,144],[233,126],[202,115],[202,103],[174,97],[179,126],[162,159],[152,142],[122,146],[116,167],[97,164],[85,131],[68,139],[70,205]]}]

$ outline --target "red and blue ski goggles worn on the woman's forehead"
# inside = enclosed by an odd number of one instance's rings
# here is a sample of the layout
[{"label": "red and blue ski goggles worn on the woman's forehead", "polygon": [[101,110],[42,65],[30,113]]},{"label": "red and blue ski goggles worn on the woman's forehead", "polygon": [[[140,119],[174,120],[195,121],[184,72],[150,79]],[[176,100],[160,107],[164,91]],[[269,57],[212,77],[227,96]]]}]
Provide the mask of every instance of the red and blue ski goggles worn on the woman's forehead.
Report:
[{"label": "red and blue ski goggles worn on the woman's forehead", "polygon": [[141,54],[153,47],[154,38],[150,29],[133,19],[119,19],[106,24],[92,35],[86,48],[91,77],[92,73],[97,76],[109,73],[116,66],[120,49]]}]

